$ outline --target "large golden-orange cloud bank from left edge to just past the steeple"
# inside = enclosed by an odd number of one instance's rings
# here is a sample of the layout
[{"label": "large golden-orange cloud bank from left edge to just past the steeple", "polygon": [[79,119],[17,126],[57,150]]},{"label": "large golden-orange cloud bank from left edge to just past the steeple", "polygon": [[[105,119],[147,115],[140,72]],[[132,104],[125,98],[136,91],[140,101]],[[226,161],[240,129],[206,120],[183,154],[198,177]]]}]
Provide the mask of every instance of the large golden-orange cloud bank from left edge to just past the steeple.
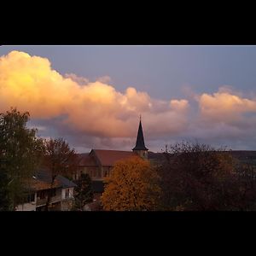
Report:
[{"label": "large golden-orange cloud bank from left edge to just past the steeple", "polygon": [[94,137],[134,137],[139,114],[152,136],[179,133],[186,125],[189,102],[160,101],[129,87],[124,93],[108,76],[88,79],[56,72],[50,61],[25,52],[0,57],[0,110],[29,111],[32,119],[60,119],[62,130]]}]

